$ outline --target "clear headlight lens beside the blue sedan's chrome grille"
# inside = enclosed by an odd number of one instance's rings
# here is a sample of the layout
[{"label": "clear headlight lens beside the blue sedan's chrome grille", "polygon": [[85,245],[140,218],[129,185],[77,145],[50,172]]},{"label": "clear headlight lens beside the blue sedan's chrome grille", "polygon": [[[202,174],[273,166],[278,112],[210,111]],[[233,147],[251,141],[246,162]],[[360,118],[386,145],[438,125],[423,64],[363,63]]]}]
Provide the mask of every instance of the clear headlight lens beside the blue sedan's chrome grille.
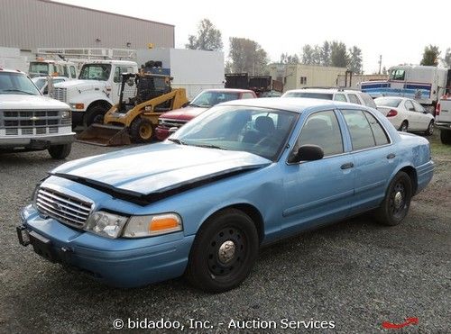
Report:
[{"label": "clear headlight lens beside the blue sedan's chrome grille", "polygon": [[85,230],[107,238],[117,238],[120,236],[127,221],[128,217],[99,211],[89,216]]}]

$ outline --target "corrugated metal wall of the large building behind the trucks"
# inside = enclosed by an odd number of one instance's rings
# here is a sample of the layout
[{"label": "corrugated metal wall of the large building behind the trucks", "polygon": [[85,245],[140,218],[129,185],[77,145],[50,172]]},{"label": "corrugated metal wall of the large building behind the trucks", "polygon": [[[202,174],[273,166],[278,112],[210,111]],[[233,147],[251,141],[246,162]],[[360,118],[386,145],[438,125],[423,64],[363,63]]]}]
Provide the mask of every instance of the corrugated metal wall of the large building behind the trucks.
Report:
[{"label": "corrugated metal wall of the large building behind the trucks", "polygon": [[3,47],[126,49],[127,42],[130,49],[173,48],[174,26],[50,1],[0,0]]}]

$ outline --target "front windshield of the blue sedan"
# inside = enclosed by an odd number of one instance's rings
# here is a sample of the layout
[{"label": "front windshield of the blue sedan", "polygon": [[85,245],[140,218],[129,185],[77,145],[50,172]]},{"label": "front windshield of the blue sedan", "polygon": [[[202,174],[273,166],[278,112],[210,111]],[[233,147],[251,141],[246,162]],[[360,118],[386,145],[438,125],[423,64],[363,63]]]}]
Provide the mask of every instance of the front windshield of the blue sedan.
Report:
[{"label": "front windshield of the blue sedan", "polygon": [[184,125],[170,140],[180,145],[245,151],[275,161],[298,115],[251,106],[216,106]]}]

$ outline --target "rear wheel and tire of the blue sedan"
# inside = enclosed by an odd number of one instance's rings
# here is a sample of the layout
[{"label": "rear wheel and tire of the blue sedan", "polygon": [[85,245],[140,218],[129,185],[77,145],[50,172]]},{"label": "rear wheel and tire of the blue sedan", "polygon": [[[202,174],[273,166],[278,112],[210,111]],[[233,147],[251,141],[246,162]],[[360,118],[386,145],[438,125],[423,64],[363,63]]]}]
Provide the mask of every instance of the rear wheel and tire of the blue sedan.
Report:
[{"label": "rear wheel and tire of the blue sedan", "polygon": [[399,172],[390,182],[381,206],[375,212],[375,218],[383,225],[398,225],[407,215],[412,198],[410,176]]}]

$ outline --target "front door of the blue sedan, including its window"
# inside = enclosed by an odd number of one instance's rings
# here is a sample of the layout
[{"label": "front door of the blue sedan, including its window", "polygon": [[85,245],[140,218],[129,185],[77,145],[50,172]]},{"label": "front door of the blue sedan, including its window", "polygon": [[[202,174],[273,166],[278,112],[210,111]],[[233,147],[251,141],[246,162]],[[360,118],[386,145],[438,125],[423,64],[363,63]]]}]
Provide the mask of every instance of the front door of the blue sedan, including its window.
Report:
[{"label": "front door of the blue sedan, including its window", "polygon": [[309,115],[291,154],[306,144],[318,145],[325,156],[285,166],[282,236],[343,219],[352,205],[354,160],[345,153],[336,112]]}]

